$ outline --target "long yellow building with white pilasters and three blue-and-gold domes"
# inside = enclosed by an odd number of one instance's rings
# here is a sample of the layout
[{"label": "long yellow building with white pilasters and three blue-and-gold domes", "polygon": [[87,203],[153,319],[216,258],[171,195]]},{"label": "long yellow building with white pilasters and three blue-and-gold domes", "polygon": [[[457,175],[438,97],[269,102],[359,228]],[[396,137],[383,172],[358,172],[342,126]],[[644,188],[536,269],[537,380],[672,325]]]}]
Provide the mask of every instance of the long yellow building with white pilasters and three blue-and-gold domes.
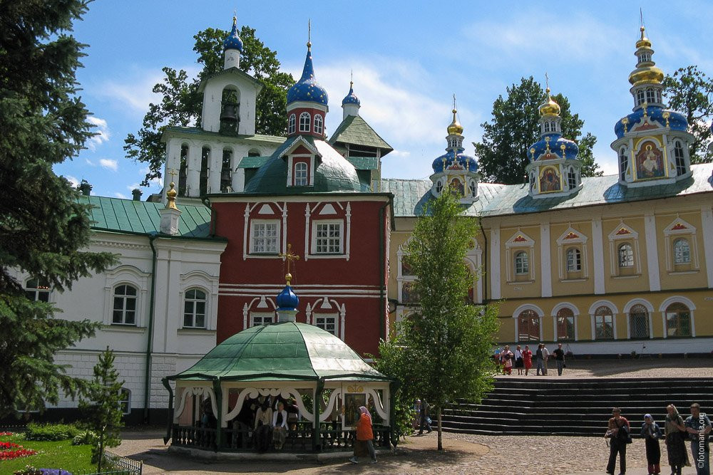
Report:
[{"label": "long yellow building with white pilasters and three blue-and-gold domes", "polygon": [[429,180],[382,180],[394,194],[392,320],[417,304],[404,244],[424,204],[448,184],[466,213],[481,217],[466,259],[474,276],[482,273],[473,301],[502,301],[499,342],[556,341],[575,354],[711,353],[713,164],[690,165],[693,137],[684,115],[662,103],[664,75],[643,28],[636,47],[634,108],[612,142],[618,174],[580,177],[578,147],[562,137],[548,88],[527,184],[478,183],[455,110]]}]

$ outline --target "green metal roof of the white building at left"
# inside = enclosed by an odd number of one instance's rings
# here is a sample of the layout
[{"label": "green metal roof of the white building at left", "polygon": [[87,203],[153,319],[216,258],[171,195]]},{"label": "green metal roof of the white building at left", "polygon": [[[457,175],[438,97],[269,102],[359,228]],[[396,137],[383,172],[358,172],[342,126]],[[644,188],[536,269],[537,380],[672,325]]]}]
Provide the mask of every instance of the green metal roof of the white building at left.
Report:
[{"label": "green metal roof of the white building at left", "polygon": [[[80,202],[92,205],[92,228],[102,231],[160,234],[163,203],[138,202],[96,196],[81,196]],[[210,209],[200,205],[178,205],[178,235],[175,237],[207,238],[210,233]]]}]

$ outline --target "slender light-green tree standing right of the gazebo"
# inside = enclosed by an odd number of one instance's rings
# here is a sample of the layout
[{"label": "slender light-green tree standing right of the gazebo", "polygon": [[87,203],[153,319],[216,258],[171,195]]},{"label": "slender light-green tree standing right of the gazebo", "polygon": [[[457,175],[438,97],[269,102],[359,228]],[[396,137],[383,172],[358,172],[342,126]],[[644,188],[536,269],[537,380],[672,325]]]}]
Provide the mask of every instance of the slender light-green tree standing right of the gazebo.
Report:
[{"label": "slender light-green tree standing right of the gazebo", "polygon": [[416,395],[428,400],[438,418],[438,450],[443,449],[441,414],[458,397],[480,400],[491,387],[496,306],[468,303],[473,278],[465,263],[477,235],[476,219],[463,216],[451,192],[427,205],[416,221],[406,262],[418,280],[419,309],[381,342],[379,368],[401,382],[399,406]]}]

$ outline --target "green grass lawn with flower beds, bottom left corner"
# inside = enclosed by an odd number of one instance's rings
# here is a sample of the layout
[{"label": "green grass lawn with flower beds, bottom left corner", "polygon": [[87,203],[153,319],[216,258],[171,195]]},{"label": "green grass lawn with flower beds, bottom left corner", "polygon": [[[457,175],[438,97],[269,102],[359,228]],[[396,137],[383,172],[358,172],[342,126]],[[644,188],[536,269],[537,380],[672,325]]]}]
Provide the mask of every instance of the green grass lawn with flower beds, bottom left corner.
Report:
[{"label": "green grass lawn with flower beds, bottom left corner", "polygon": [[36,442],[25,440],[23,434],[10,437],[0,437],[1,442],[13,442],[25,449],[33,449],[37,454],[0,461],[0,474],[12,474],[24,469],[26,465],[36,469],[89,470],[96,469],[90,464],[91,447],[88,445],[72,445],[71,439],[58,442]]}]

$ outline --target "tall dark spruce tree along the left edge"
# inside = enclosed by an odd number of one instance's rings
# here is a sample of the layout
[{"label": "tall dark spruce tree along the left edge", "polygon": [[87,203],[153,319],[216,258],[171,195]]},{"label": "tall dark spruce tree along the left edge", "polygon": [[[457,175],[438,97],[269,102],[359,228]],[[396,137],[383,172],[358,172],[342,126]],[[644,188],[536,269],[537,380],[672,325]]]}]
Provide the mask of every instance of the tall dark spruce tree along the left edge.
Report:
[{"label": "tall dark spruce tree along the left edge", "polygon": [[28,298],[16,271],[63,291],[102,271],[111,254],[86,251],[89,205],[52,166],[93,135],[76,96],[84,45],[71,31],[80,0],[18,0],[0,9],[0,417],[75,395],[81,380],[53,358],[93,335],[99,323],[55,318],[51,304]]}]

